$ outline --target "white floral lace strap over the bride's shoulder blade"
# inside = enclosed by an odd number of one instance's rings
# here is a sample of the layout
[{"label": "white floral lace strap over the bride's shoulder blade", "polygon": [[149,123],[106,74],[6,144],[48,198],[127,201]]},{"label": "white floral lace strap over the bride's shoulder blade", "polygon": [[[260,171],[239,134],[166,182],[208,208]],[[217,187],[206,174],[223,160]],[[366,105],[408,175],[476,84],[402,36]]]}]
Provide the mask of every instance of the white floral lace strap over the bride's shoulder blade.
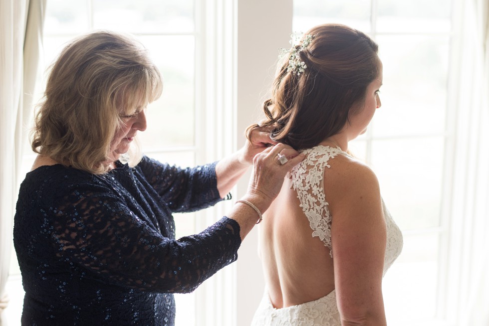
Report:
[{"label": "white floral lace strap over the bride's shoulder blade", "polygon": [[309,220],[313,230],[312,236],[319,237],[332,257],[331,248],[331,214],[324,195],[324,167],[330,167],[329,159],[338,154],[345,154],[340,148],[316,146],[303,151],[306,158],[290,171],[292,186],[297,191],[300,207]]}]

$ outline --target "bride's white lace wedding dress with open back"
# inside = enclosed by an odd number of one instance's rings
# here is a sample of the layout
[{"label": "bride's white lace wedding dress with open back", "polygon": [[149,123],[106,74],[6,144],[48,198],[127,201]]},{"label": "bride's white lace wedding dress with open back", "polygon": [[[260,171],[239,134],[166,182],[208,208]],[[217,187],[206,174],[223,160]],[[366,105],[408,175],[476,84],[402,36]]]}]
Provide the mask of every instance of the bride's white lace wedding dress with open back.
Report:
[{"label": "bride's white lace wedding dress with open back", "polygon": [[[306,159],[296,165],[292,171],[292,184],[297,191],[302,211],[307,216],[312,229],[312,236],[319,237],[331,250],[331,215],[323,190],[323,172],[330,167],[328,161],[337,155],[347,155],[339,148],[316,146],[303,151]],[[387,226],[387,244],[384,262],[384,274],[399,256],[402,250],[402,233],[384,208]],[[331,253],[331,251],[330,251]],[[264,291],[263,299],[255,312],[252,326],[341,326],[336,294],[333,290],[328,295],[297,306],[281,309],[273,308],[268,292]]]}]

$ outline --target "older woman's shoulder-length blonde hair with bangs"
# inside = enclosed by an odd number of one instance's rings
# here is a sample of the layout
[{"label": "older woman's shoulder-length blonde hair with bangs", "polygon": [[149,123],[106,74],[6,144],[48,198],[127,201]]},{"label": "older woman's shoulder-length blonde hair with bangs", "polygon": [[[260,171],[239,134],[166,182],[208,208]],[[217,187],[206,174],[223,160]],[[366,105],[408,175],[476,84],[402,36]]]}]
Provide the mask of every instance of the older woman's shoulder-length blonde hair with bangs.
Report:
[{"label": "older woman's shoulder-length blonde hair with bangs", "polygon": [[[159,98],[162,88],[158,68],[131,36],[96,31],[78,37],[51,67],[32,150],[67,166],[104,173],[121,116]],[[132,164],[139,160],[139,155],[130,158]]]}]

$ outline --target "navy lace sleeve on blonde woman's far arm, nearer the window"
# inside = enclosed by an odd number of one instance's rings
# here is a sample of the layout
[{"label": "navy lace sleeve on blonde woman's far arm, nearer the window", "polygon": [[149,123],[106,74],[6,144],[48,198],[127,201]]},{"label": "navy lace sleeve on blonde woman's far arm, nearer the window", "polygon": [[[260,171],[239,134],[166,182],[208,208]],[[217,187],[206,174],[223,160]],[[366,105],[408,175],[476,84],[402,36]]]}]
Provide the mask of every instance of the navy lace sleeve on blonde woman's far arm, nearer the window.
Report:
[{"label": "navy lace sleeve on blonde woman's far arm, nearer the window", "polygon": [[142,174],[170,209],[191,212],[222,200],[217,188],[216,163],[180,168],[144,157],[135,173]]}]

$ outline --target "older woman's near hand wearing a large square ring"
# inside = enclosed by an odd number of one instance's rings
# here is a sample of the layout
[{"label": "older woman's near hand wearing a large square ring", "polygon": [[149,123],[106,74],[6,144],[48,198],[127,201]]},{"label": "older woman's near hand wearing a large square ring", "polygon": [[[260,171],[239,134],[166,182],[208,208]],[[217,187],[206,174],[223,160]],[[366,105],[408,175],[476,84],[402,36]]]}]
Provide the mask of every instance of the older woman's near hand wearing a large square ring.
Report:
[{"label": "older woman's near hand wearing a large square ring", "polygon": [[[280,160],[281,156],[284,156],[286,160]],[[254,156],[253,172],[245,196],[252,198],[263,212],[278,195],[285,174],[304,158],[304,154],[299,154],[284,144],[277,144],[262,150],[261,153]]]}]

